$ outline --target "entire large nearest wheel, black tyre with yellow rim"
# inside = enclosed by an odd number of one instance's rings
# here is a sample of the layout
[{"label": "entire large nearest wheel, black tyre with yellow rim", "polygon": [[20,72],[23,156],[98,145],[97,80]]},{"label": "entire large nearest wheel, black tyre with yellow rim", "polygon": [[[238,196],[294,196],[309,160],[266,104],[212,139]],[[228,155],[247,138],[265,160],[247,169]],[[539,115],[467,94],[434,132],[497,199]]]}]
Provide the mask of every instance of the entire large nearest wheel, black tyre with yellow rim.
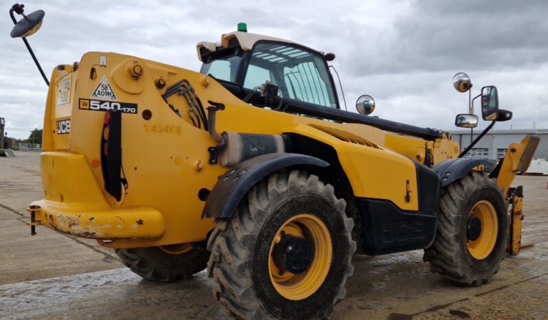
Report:
[{"label": "entire large nearest wheel, black tyre with yellow rim", "polygon": [[352,275],[354,221],[331,185],[271,174],[231,219],[218,219],[207,266],[214,297],[240,319],[323,319]]}]

